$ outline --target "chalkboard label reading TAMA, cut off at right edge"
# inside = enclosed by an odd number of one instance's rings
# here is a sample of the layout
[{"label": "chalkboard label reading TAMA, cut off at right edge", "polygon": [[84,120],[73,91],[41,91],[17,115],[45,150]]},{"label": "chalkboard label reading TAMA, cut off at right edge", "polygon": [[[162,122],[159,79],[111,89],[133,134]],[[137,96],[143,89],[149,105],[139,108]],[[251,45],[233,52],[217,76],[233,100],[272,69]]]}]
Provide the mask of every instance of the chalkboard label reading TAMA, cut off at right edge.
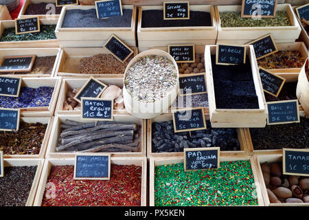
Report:
[{"label": "chalkboard label reading TAMA, cut off at right edge", "polygon": [[284,175],[309,176],[309,149],[283,148]]}]

